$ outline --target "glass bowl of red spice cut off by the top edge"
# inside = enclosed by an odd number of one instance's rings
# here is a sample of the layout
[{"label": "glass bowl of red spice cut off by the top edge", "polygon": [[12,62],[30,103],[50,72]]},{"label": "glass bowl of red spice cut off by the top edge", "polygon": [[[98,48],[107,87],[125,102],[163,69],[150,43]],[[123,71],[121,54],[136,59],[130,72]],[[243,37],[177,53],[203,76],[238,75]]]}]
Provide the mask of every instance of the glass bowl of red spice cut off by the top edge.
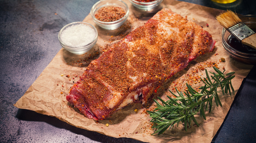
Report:
[{"label": "glass bowl of red spice cut off by the top edge", "polygon": [[155,0],[152,2],[139,2],[136,0],[129,0],[132,5],[140,10],[150,11],[156,8],[163,0]]}]

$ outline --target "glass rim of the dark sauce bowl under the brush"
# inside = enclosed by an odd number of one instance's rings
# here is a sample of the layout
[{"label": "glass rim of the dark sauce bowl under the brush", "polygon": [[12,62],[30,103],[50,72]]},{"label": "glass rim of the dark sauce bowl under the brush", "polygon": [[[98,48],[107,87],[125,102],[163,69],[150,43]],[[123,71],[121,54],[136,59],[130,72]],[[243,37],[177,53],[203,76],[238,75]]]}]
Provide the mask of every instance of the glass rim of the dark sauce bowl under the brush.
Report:
[{"label": "glass rim of the dark sauce bowl under the brush", "polygon": [[[256,18],[256,15],[242,15],[242,16],[239,16],[239,18],[244,18],[244,17],[255,17],[255,18]],[[246,23],[246,22],[244,22],[244,23]],[[234,56],[239,56],[239,57],[244,57],[244,58],[245,58],[244,55],[256,56],[256,54],[250,54],[250,53],[241,52],[241,51],[238,51],[238,50],[234,49],[233,47],[231,47],[231,46],[227,43],[226,39],[224,38],[224,34],[225,34],[226,31],[227,31],[226,28],[223,28],[223,29],[222,29],[222,45],[224,46],[224,48],[225,48],[226,50],[228,50],[228,52],[231,51],[232,53],[236,52],[236,53],[243,54],[243,56],[237,55],[237,54],[234,55]],[[226,47],[226,45],[227,45],[228,47]],[[233,52],[233,51],[234,51],[234,52]],[[229,53],[230,53],[230,52],[229,52]],[[249,58],[249,57],[248,57],[248,58]],[[255,58],[256,58],[256,57],[255,57]]]}]

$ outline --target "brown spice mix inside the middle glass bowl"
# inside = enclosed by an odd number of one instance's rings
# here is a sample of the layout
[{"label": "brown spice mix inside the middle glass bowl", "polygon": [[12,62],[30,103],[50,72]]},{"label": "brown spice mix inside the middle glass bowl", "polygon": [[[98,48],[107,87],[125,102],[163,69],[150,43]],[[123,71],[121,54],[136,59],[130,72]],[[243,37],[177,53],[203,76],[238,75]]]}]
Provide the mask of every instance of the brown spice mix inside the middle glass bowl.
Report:
[{"label": "brown spice mix inside the middle glass bowl", "polygon": [[117,21],[124,17],[125,11],[119,7],[103,7],[95,14],[95,18],[103,22]]}]

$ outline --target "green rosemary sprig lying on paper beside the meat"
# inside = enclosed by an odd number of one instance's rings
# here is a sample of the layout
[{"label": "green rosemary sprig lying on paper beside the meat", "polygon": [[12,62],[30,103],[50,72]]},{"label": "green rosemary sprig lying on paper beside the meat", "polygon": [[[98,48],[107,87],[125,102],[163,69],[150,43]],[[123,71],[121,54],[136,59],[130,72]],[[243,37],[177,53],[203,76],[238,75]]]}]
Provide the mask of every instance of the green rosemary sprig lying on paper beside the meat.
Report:
[{"label": "green rosemary sprig lying on paper beside the meat", "polygon": [[221,88],[223,95],[227,93],[231,95],[231,90],[232,93],[235,94],[231,84],[231,79],[235,77],[235,75],[233,75],[235,72],[224,74],[225,70],[221,72],[216,67],[213,67],[213,69],[217,73],[210,72],[213,74],[211,76],[209,76],[207,70],[205,70],[206,78],[201,78],[205,85],[199,88],[201,92],[197,92],[189,84],[186,84],[187,90],[183,92],[185,96],[175,87],[179,96],[169,91],[176,98],[172,99],[170,96],[167,96],[169,100],[165,102],[158,97],[162,104],[154,99],[157,108],[153,112],[147,111],[152,118],[150,121],[153,123],[152,128],[155,128],[153,134],[160,135],[168,128],[173,128],[174,124],[177,123],[178,126],[179,122],[184,123],[185,131],[187,131],[187,125],[190,127],[192,120],[199,126],[194,116],[200,111],[200,116],[206,120],[205,111],[211,112],[213,98],[217,106],[222,106],[218,95],[219,91],[217,91],[218,87]]}]

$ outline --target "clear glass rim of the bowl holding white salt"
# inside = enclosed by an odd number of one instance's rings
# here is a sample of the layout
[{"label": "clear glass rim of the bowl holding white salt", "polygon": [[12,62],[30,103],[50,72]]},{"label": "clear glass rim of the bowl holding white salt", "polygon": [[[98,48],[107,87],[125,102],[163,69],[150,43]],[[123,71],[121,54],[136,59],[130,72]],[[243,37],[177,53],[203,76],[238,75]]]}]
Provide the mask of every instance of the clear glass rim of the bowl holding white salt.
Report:
[{"label": "clear glass rim of the bowl holding white salt", "polygon": [[[73,24],[86,24],[86,25],[90,25],[90,26],[95,30],[95,33],[96,33],[95,38],[94,38],[90,43],[88,43],[87,45],[71,46],[71,45],[65,44],[65,43],[61,40],[60,35],[61,35],[62,31],[63,31],[65,28],[67,28],[68,26],[73,25]],[[60,29],[60,31],[59,31],[59,33],[58,33],[58,39],[59,39],[61,45],[65,45],[65,48],[69,48],[69,49],[72,49],[72,50],[87,49],[87,48],[89,48],[91,45],[93,45],[93,44],[97,41],[97,39],[98,39],[98,31],[97,31],[96,27],[93,26],[92,24],[89,24],[89,23],[86,23],[86,22],[72,22],[72,23],[66,24],[65,26],[63,26],[63,27]],[[64,47],[63,47],[63,48],[64,48]]]}]

